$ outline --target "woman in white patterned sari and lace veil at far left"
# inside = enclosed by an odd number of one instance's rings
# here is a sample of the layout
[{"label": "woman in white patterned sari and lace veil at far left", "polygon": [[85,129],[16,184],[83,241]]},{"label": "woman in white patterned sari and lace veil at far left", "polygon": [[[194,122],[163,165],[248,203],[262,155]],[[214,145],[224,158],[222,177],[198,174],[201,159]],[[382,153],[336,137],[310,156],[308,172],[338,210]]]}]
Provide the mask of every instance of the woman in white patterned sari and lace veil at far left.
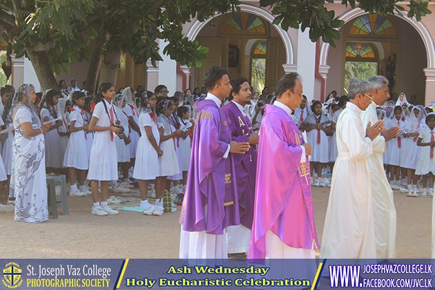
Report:
[{"label": "woman in white patterned sari and lace veil at far left", "polygon": [[48,220],[45,142],[43,135],[50,124],[41,126],[33,103],[35,88],[22,84],[12,101],[14,143],[11,190],[15,195],[14,220]]}]

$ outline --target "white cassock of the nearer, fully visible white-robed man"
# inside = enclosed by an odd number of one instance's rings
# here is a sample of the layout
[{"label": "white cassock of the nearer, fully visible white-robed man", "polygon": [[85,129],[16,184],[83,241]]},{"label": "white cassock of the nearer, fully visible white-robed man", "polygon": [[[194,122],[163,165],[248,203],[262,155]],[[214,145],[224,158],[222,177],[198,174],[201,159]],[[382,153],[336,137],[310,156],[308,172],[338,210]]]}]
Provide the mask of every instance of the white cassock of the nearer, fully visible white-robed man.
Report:
[{"label": "white cassock of the nearer, fully visible white-robed man", "polygon": [[348,101],[338,117],[338,157],[332,173],[320,259],[376,258],[367,162],[373,145],[365,137],[360,114],[360,108]]}]

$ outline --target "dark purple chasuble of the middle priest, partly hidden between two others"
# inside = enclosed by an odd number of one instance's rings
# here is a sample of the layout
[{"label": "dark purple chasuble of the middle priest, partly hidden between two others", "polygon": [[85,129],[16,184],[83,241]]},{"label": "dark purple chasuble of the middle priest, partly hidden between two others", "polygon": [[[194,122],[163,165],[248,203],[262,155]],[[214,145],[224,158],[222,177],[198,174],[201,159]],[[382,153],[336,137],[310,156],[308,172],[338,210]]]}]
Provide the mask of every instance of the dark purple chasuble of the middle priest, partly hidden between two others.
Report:
[{"label": "dark purple chasuble of the middle priest, partly hidden between two others", "polygon": [[[222,107],[228,121],[231,140],[249,142],[252,134],[252,124],[249,117],[244,116],[233,101]],[[244,154],[233,154],[235,174],[237,175],[237,190],[239,198],[240,224],[248,229],[252,227],[253,204],[255,199],[255,172],[257,169],[257,146]]]}]

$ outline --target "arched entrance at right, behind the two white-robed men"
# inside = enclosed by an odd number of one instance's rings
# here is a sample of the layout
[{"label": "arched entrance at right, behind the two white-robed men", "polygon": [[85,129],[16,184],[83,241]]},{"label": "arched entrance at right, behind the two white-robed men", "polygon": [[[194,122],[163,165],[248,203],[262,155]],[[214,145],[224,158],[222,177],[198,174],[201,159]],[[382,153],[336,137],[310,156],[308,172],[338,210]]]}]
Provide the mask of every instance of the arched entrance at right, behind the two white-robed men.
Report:
[{"label": "arched entrance at right, behind the two white-robed men", "polygon": [[[403,91],[408,99],[416,95],[418,104],[428,103],[427,78],[432,70],[427,68],[434,66],[435,49],[423,23],[401,16],[387,19],[376,14],[369,16],[359,8],[340,19],[346,23],[340,28],[342,37],[336,43],[337,48],[323,43],[320,50],[320,68],[329,75],[326,93],[331,90],[344,93],[347,61],[354,58],[375,62],[374,70],[390,79],[392,92]],[[357,30],[363,33],[358,34]]]}]

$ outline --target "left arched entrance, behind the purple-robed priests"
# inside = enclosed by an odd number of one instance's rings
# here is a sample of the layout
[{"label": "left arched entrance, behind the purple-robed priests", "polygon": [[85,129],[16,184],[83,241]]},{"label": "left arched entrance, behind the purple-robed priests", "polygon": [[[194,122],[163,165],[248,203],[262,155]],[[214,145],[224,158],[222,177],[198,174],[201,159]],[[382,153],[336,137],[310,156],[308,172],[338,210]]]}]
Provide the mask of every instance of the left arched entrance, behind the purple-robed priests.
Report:
[{"label": "left arched entrance, behind the purple-robed priests", "polygon": [[256,89],[275,87],[284,64],[293,64],[293,46],[287,32],[272,25],[273,16],[255,6],[242,4],[241,12],[195,21],[186,36],[208,47],[201,68],[190,70],[191,87],[202,86],[209,66],[228,68],[230,77],[247,77]]}]

